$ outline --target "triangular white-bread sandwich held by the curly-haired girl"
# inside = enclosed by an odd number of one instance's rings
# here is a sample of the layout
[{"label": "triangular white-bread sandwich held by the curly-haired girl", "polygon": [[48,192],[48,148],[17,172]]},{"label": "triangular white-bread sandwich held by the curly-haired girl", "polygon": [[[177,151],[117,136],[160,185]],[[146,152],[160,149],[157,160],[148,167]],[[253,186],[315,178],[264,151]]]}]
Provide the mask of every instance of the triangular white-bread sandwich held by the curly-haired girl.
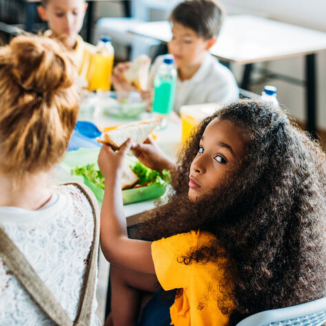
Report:
[{"label": "triangular white-bread sandwich held by the curly-haired girl", "polygon": [[110,145],[113,150],[119,150],[121,145],[129,138],[136,141],[136,143],[143,143],[159,123],[159,119],[152,119],[119,125],[114,129],[103,132],[97,141]]}]

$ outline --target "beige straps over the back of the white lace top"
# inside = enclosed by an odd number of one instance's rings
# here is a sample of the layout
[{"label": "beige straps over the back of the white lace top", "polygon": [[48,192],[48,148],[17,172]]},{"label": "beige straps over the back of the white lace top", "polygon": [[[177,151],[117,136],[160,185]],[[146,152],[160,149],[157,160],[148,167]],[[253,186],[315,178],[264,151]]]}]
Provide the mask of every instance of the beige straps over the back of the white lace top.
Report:
[{"label": "beige straps over the back of the white lace top", "polygon": [[85,185],[81,183],[65,183],[74,185],[85,194],[94,216],[94,235],[90,251],[90,262],[86,270],[81,298],[79,299],[79,309],[74,323],[61,307],[57,298],[54,297],[50,289],[43,283],[32,265],[23,256],[18,247],[12,242],[8,234],[0,227],[0,256],[3,262],[11,270],[14,276],[21,282],[26,291],[47,314],[59,326],[88,326],[92,316],[92,303],[94,297],[94,287],[96,278],[97,257],[99,252],[99,207],[96,198]]}]

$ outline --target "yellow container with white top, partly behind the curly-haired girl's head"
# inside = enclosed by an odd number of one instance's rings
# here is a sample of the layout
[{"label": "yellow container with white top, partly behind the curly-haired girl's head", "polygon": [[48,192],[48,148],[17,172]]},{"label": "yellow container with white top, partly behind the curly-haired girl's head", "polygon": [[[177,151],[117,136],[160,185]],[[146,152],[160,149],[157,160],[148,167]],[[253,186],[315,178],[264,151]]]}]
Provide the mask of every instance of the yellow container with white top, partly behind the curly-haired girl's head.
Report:
[{"label": "yellow container with white top, partly behind the curly-haired girl's head", "polygon": [[205,103],[195,105],[183,105],[180,108],[181,116],[181,141],[185,143],[192,130],[200,123],[203,119],[210,114],[213,114],[218,110],[218,104],[216,103]]}]

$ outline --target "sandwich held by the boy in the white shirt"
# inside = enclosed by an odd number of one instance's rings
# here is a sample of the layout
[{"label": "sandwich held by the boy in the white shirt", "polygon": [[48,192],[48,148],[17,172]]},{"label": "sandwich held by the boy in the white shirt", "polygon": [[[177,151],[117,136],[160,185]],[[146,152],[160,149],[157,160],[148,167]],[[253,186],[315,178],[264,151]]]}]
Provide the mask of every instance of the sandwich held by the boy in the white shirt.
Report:
[{"label": "sandwich held by the boy in the white shirt", "polygon": [[130,68],[123,72],[123,77],[136,90],[147,90],[148,72],[150,71],[150,57],[141,54],[130,64]]}]

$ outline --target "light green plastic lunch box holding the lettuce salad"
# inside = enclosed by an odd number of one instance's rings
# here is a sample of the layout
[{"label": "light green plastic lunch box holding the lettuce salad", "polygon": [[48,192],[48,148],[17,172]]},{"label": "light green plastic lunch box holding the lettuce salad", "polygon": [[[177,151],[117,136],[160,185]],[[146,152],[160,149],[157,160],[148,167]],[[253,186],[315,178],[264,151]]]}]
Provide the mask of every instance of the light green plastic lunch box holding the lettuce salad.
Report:
[{"label": "light green plastic lunch box holding the lettuce salad", "polygon": [[[99,148],[86,149],[81,148],[72,152],[66,152],[63,157],[63,161],[60,163],[61,168],[69,172],[74,169],[77,165],[83,166],[87,164],[96,163],[97,157],[99,156]],[[135,161],[134,157],[126,157],[128,163],[132,164]],[[85,185],[87,185],[92,192],[94,192],[96,198],[99,201],[103,201],[104,190],[88,180],[85,176],[83,177]],[[122,198],[124,204],[137,203],[139,201],[148,201],[150,199],[159,198],[165,192],[166,183],[163,185],[147,185],[147,187],[137,187],[122,191]]]}]

